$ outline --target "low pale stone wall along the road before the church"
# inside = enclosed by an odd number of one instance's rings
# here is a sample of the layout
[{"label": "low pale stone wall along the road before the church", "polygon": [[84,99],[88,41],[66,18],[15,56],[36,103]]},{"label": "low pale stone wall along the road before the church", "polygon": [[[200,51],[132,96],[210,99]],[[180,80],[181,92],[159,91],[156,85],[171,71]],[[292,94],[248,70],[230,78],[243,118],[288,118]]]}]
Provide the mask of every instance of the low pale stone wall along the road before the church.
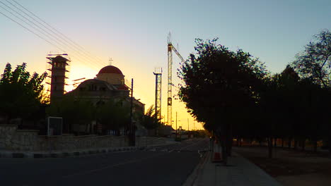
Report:
[{"label": "low pale stone wall along the road before the church", "polygon": [[[127,147],[127,137],[112,135],[61,136],[37,135],[38,130],[18,130],[17,125],[0,125],[0,150],[9,151],[68,151]],[[164,138],[137,137],[136,146],[165,144]]]}]

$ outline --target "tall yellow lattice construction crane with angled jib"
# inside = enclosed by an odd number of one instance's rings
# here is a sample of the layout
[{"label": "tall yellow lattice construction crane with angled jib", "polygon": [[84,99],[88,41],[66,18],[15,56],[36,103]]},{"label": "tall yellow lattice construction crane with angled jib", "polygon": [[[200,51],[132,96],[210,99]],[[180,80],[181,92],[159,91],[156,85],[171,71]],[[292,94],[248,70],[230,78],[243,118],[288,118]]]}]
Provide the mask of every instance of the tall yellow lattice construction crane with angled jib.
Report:
[{"label": "tall yellow lattice construction crane with angled jib", "polygon": [[184,58],[180,56],[175,46],[171,43],[171,35],[168,35],[168,125],[173,125],[173,51],[180,58],[182,63]]}]

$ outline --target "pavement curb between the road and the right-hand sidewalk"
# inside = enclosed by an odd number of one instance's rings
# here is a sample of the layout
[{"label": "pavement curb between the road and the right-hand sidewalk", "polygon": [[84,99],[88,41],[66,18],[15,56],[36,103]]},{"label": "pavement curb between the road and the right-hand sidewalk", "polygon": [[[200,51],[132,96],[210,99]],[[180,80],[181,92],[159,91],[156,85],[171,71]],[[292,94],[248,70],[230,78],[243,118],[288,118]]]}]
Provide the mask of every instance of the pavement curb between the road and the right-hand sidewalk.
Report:
[{"label": "pavement curb between the road and the right-hand sidewalk", "polygon": [[206,164],[207,161],[209,161],[211,156],[211,151],[207,151],[202,159],[199,161],[197,166],[194,168],[192,173],[189,175],[189,177],[185,180],[185,182],[182,184],[182,186],[192,186],[195,185],[195,182],[197,182],[199,179],[199,175],[201,174],[202,168]]}]

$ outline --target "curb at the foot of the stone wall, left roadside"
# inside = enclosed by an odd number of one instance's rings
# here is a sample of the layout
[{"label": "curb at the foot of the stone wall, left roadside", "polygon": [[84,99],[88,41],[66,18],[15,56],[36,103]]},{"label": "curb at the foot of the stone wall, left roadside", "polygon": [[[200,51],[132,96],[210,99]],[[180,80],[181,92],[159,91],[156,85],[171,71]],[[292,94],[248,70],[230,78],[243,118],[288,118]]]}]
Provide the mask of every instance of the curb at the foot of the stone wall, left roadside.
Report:
[{"label": "curb at the foot of the stone wall, left roadside", "polygon": [[136,151],[146,147],[115,147],[111,149],[84,149],[81,151],[59,151],[59,152],[11,152],[0,151],[0,158],[11,159],[45,159],[45,158],[66,158],[75,156],[85,156],[89,154],[108,154],[119,151]]}]

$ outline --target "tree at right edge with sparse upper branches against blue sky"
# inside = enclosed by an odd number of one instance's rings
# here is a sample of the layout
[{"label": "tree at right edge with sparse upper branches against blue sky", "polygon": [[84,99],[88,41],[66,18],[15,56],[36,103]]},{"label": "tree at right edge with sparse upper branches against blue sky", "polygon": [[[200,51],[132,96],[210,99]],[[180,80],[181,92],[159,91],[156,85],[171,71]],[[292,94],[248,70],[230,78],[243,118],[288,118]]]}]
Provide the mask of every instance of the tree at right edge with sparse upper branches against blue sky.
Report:
[{"label": "tree at right edge with sparse upper branches against blue sky", "polygon": [[[323,132],[331,142],[330,94],[331,94],[331,32],[323,30],[305,46],[296,61],[291,64],[301,76],[301,120],[308,128],[306,133],[316,142]],[[312,133],[313,132],[313,133]],[[331,145],[330,150],[331,150]],[[316,149],[316,144],[315,144]]]}]

